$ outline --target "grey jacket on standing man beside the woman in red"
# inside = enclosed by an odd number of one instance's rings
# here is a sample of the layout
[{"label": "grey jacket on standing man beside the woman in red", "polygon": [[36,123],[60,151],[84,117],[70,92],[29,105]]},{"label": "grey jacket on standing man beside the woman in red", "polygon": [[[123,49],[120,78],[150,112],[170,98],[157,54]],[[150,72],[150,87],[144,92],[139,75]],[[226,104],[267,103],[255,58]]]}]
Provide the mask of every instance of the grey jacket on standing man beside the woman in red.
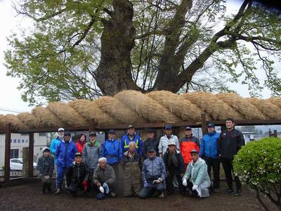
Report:
[{"label": "grey jacket on standing man beside the woman in red", "polygon": [[88,165],[89,169],[98,167],[98,158],[101,156],[101,146],[98,141],[92,146],[91,141],[85,144],[83,149],[83,162]]}]

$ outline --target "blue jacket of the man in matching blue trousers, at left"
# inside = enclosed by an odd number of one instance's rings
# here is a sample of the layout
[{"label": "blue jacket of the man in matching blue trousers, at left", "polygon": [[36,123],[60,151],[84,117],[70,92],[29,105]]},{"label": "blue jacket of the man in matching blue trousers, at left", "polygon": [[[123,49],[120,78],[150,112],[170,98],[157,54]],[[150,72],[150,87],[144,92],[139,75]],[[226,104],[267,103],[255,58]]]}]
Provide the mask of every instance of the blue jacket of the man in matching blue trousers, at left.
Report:
[{"label": "blue jacket of the man in matching blue trousers, at left", "polygon": [[60,141],[55,149],[55,158],[57,159],[57,165],[61,167],[70,167],[74,161],[74,155],[77,153],[75,143],[70,141]]}]

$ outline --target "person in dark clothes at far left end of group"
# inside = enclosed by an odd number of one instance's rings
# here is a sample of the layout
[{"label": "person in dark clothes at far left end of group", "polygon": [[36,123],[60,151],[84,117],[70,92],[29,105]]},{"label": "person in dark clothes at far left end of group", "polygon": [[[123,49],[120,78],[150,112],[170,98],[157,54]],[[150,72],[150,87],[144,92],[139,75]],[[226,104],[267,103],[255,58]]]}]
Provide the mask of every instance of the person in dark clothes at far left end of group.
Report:
[{"label": "person in dark clothes at far left end of group", "polygon": [[38,159],[37,170],[39,170],[39,177],[42,181],[42,193],[44,194],[46,189],[49,193],[51,190],[51,181],[53,174],[54,162],[53,156],[50,155],[50,149],[48,147],[44,148],[43,156]]}]

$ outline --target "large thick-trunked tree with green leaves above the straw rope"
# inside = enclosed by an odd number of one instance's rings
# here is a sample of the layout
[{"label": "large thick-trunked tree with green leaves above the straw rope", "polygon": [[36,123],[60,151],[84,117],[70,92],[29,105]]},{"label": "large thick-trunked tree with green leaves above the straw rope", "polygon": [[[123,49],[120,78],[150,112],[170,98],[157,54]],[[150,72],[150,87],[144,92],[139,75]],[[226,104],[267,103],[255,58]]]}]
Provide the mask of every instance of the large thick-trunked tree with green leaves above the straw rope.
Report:
[{"label": "large thick-trunked tree with green leaves above the straw rope", "polygon": [[6,65],[31,104],[123,89],[229,91],[229,80],[281,93],[280,13],[253,1],[233,15],[221,0],[20,2],[34,28],[10,38]]}]

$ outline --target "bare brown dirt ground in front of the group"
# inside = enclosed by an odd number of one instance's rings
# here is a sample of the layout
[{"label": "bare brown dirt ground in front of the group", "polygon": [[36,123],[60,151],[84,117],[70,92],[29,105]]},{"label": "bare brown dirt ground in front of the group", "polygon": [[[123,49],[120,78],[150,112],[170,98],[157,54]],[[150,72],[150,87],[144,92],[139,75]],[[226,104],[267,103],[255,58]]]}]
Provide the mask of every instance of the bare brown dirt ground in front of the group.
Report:
[{"label": "bare brown dirt ground in front of the group", "polygon": [[[54,182],[53,182],[54,186]],[[53,187],[54,188],[54,187]],[[93,196],[72,198],[66,191],[57,195],[41,194],[39,181],[0,188],[0,210],[263,210],[255,193],[243,187],[242,196],[211,193],[209,198],[188,198],[175,193],[164,198],[116,198],[96,200]],[[221,191],[226,183],[221,182]],[[267,201],[268,202],[268,201]],[[271,206],[270,210],[275,210]]]}]

